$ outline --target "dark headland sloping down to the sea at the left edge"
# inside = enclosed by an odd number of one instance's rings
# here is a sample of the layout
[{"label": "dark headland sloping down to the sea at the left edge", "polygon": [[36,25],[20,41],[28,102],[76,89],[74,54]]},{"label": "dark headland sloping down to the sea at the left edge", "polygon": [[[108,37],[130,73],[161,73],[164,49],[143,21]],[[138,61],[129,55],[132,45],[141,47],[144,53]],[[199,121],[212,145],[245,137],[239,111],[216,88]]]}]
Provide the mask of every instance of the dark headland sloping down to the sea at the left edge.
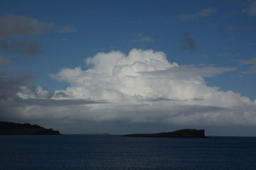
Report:
[{"label": "dark headland sloping down to the sea at the left edge", "polygon": [[1,122],[0,121],[0,135],[6,134],[60,134],[59,131],[53,131],[52,129],[45,129],[39,125],[31,124],[16,124],[13,122]]}]

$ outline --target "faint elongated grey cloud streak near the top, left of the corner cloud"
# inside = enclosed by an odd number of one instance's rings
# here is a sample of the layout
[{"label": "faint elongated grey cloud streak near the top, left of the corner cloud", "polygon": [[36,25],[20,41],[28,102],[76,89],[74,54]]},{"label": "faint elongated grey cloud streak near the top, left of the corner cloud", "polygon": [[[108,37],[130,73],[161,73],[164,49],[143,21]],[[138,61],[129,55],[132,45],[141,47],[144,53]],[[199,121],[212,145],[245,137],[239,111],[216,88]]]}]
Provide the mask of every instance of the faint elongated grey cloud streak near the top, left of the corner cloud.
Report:
[{"label": "faint elongated grey cloud streak near the top, left of the corner cloud", "polygon": [[177,18],[181,21],[191,21],[199,18],[209,17],[215,12],[216,10],[214,10],[214,8],[205,8],[203,10],[197,11],[196,13],[183,13],[177,15]]}]

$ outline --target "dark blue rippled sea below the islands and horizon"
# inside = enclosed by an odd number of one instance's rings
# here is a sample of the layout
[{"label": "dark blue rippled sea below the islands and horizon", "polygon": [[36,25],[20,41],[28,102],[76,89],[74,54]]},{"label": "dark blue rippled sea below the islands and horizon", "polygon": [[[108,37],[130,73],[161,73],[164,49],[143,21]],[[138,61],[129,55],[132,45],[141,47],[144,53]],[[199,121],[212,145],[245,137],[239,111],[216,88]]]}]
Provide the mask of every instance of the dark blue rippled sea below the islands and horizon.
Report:
[{"label": "dark blue rippled sea below the islands and horizon", "polygon": [[256,169],[256,138],[0,136],[0,169]]}]

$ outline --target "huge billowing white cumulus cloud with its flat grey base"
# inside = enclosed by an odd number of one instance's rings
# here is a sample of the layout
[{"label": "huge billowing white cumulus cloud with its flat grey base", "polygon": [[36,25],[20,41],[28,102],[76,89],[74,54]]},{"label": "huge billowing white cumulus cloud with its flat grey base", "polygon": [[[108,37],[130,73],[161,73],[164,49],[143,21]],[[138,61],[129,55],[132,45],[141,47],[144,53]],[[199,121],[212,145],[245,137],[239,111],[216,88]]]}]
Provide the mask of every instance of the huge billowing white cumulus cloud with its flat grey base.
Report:
[{"label": "huge billowing white cumulus cloud with its flat grey base", "polygon": [[[14,97],[12,93],[13,100],[19,102],[15,103],[15,110],[5,108],[22,119],[51,118],[59,122],[125,120],[172,125],[256,125],[256,101],[208,87],[204,81],[205,76],[236,68],[179,66],[168,62],[163,52],[137,49],[128,55],[97,53],[86,59],[86,64],[89,69],[63,68],[51,75],[67,81],[67,89],[48,92],[28,84],[11,89],[16,94]],[[4,117],[12,114],[6,113]]]}]

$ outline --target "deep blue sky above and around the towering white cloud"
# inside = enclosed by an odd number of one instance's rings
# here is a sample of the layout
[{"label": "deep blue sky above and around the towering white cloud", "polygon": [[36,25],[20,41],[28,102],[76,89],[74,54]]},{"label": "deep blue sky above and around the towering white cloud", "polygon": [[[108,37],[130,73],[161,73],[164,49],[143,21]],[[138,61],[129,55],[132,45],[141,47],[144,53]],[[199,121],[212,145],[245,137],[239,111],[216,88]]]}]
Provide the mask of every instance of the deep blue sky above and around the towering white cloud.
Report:
[{"label": "deep blue sky above and around the towering white cloud", "polygon": [[[22,16],[20,25],[32,32],[17,29],[2,38],[0,69],[31,73],[29,82],[56,92],[74,83],[51,76],[63,68],[90,69],[97,64],[86,64],[86,59],[99,52],[128,55],[133,48],[152,49],[165,53],[171,64],[228,69],[204,76],[205,85],[254,101],[255,8],[256,1],[239,0],[1,1],[0,20],[15,23]],[[0,25],[3,37],[6,23]],[[28,43],[34,46],[27,49]]]}]

